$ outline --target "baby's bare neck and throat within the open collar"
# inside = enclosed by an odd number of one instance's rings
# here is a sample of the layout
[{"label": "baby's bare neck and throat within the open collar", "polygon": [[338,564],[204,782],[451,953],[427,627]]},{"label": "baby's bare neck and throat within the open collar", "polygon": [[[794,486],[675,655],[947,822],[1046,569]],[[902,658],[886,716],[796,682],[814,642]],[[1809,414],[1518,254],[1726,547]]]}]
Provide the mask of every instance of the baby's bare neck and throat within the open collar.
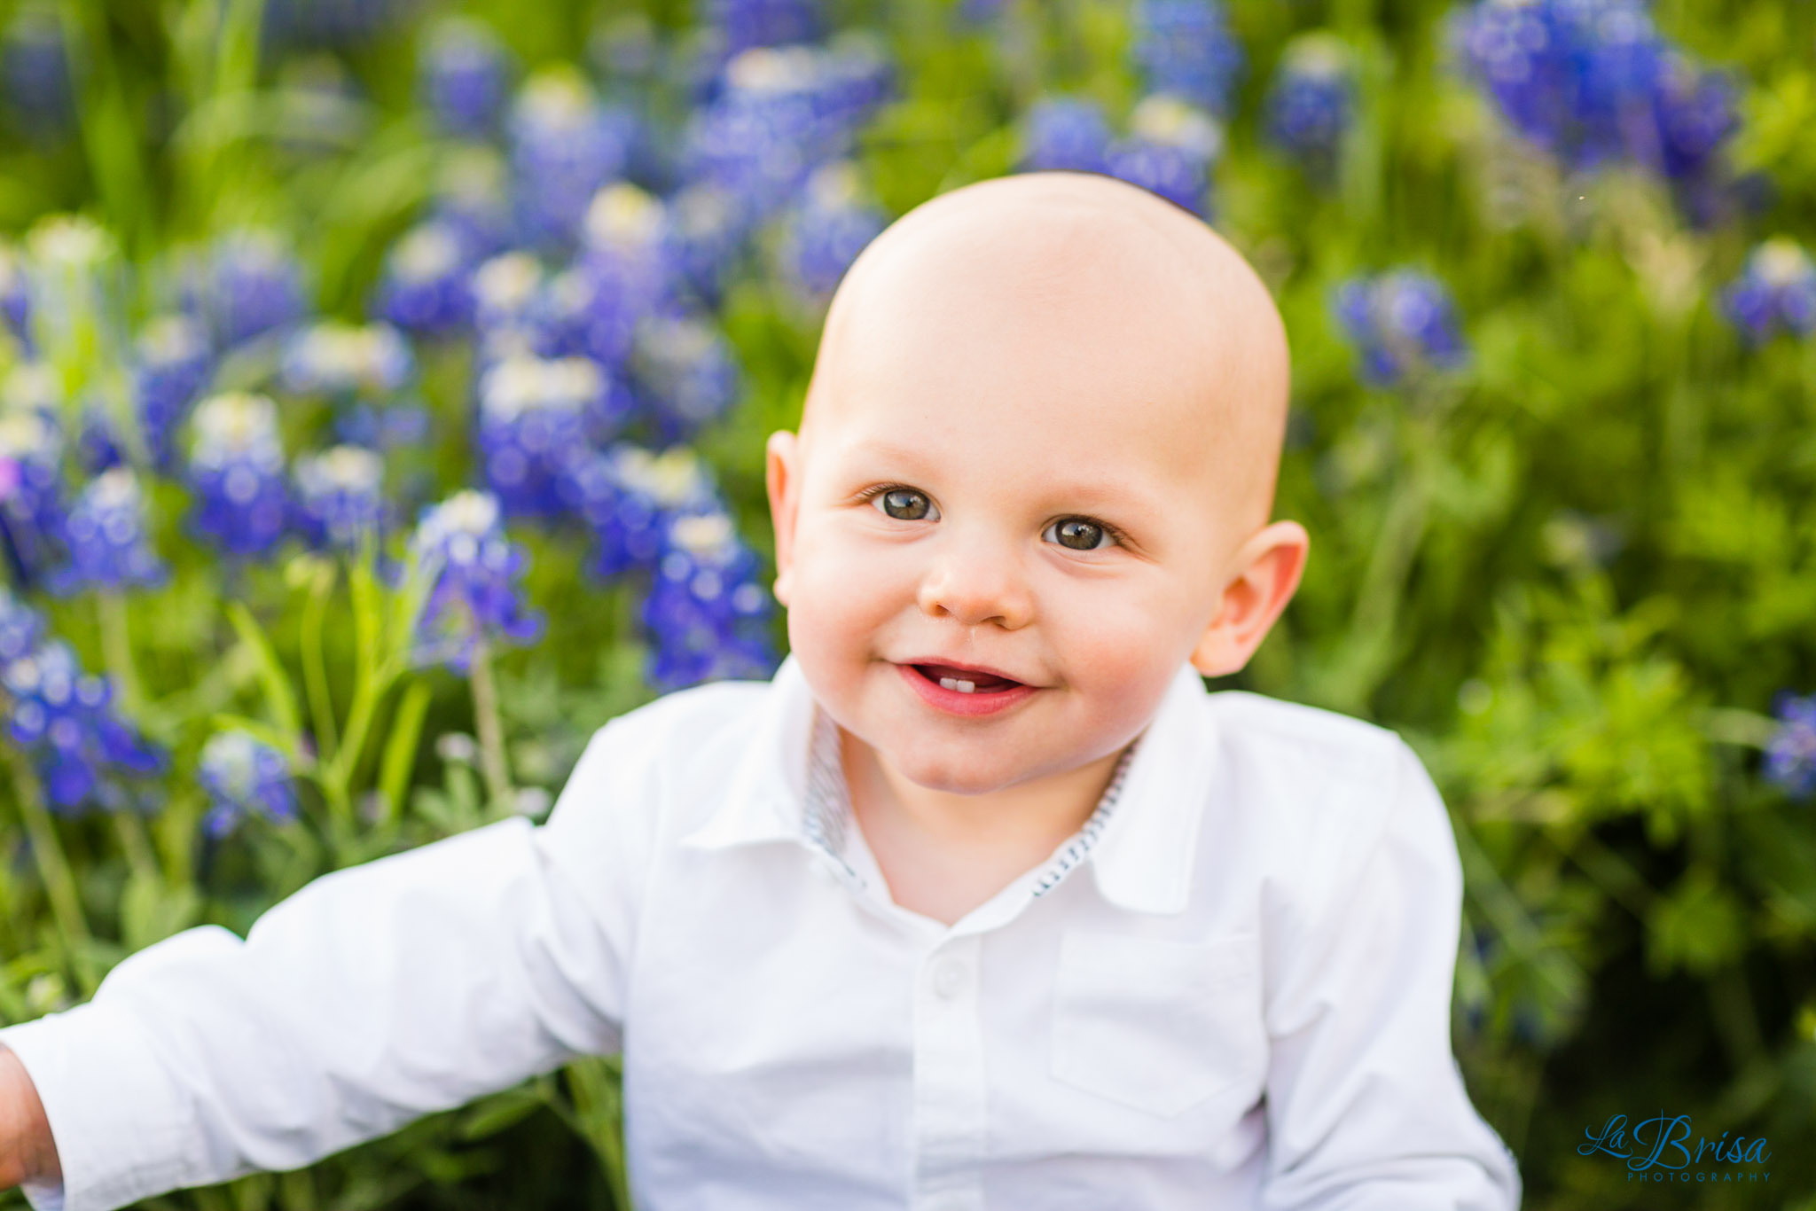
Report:
[{"label": "baby's bare neck and throat within the open collar", "polygon": [[919,786],[839,730],[852,812],[892,899],[953,924],[1079,832],[1120,750],[1064,773],[982,795]]}]

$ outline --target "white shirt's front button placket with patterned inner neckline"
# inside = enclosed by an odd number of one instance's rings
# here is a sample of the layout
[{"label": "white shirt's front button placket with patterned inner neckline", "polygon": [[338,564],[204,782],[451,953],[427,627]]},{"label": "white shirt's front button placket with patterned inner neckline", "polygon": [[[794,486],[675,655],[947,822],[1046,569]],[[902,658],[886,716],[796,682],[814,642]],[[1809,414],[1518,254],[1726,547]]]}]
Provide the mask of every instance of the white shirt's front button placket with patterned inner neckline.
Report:
[{"label": "white shirt's front button placket with patterned inner neckline", "polygon": [[[1001,930],[1082,864],[1122,790],[1131,744],[1117,763],[1084,826],[1042,868],[1033,870],[946,928],[901,908],[850,861],[855,813],[839,759],[839,728],[819,708],[808,757],[803,839],[821,870],[870,911],[924,942],[913,988],[913,1187],[910,1211],[982,1211],[988,1138],[984,1026],[979,1006],[984,933]],[[873,868],[873,862],[868,862]]]}]

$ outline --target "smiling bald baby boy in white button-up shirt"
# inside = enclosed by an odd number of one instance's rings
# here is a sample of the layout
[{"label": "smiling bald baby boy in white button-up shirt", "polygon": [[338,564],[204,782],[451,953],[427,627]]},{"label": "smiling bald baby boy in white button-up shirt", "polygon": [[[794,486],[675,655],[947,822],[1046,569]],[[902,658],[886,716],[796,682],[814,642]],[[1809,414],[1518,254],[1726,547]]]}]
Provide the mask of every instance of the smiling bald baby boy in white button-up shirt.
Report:
[{"label": "smiling bald baby boy in white button-up shirt", "polygon": [[1516,1207],[1429,777],[1200,677],[1298,585],[1286,396],[1268,290],[1150,192],[912,211],[768,443],[775,677],[0,1031],[0,1175],[113,1207],[621,1051],[643,1211]]}]

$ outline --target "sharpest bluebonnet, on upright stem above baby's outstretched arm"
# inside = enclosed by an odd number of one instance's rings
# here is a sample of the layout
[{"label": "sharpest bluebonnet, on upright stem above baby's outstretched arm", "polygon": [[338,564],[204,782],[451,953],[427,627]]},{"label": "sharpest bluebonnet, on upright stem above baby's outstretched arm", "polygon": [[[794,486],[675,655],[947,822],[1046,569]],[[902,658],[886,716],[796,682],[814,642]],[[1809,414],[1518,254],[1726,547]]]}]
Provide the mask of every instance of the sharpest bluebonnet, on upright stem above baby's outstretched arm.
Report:
[{"label": "sharpest bluebonnet, on upright stem above baby's outstretched arm", "polygon": [[432,577],[418,623],[416,659],[465,674],[479,639],[534,643],[543,619],[518,597],[528,563],[505,536],[498,497],[463,490],[425,508],[410,539],[418,568]]}]

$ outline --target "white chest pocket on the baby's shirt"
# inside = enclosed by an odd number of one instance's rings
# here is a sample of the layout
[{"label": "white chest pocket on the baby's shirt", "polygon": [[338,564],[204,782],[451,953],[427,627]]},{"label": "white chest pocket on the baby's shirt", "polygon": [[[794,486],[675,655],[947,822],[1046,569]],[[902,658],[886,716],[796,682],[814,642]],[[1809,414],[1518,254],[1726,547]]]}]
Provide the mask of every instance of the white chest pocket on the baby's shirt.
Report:
[{"label": "white chest pocket on the baby's shirt", "polygon": [[1180,1115],[1268,1069],[1253,933],[1173,942],[1061,939],[1050,1073],[1150,1115]]}]

